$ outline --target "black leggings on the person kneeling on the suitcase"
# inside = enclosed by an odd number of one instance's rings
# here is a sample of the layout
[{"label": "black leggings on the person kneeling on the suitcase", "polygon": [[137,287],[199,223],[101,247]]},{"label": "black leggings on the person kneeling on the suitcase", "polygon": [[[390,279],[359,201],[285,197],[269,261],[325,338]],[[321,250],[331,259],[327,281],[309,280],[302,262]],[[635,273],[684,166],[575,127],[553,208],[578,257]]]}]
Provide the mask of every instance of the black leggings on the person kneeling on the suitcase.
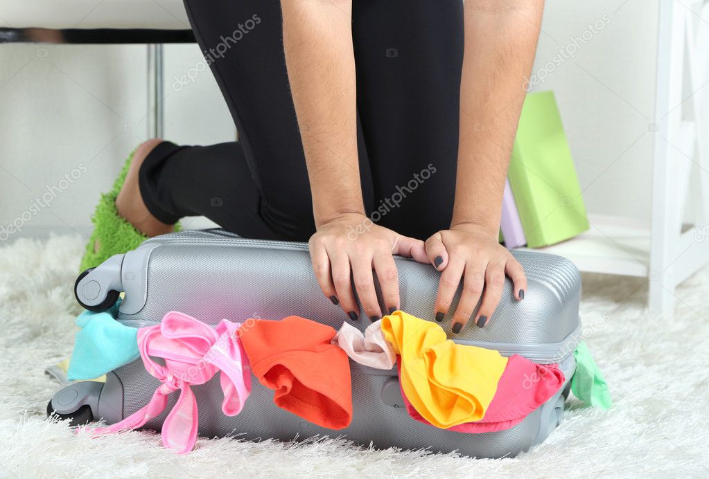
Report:
[{"label": "black leggings on the person kneeling on the suitcase", "polygon": [[[315,232],[279,0],[185,0],[240,141],[162,142],[140,192],[162,222],[203,215],[243,237]],[[359,171],[367,215],[425,239],[450,225],[463,55],[461,0],[354,0]]]}]

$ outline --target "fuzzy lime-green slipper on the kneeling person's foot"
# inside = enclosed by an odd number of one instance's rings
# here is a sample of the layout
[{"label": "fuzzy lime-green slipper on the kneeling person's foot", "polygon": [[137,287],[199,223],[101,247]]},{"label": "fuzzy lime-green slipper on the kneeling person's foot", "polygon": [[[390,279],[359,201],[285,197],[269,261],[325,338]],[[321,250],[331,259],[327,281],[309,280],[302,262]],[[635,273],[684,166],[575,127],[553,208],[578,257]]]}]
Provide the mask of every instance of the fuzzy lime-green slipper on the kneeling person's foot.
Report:
[{"label": "fuzzy lime-green slipper on the kneeling person's foot", "polygon": [[[130,222],[119,215],[118,208],[116,208],[116,198],[118,198],[118,193],[123,188],[130,162],[133,161],[133,154],[135,154],[135,150],[130,153],[125,161],[121,174],[113,182],[111,191],[102,194],[99,204],[96,205],[94,215],[91,217],[91,222],[94,223],[94,232],[89,238],[89,243],[86,244],[86,252],[84,252],[79,271],[99,266],[99,264],[114,254],[125,253],[135,249],[147,239],[147,236],[136,230]],[[178,223],[175,225],[175,231],[179,230]],[[94,251],[96,241],[99,242],[98,251]]]}]

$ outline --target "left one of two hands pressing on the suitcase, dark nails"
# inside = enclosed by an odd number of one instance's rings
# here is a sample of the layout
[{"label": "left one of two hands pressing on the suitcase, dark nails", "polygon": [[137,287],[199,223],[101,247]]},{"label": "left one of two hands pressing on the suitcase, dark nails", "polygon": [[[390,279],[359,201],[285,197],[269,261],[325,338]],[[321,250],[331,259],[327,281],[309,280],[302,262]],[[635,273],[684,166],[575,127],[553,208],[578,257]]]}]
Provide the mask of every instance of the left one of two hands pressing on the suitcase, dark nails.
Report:
[{"label": "left one of two hands pressing on the suitcase, dark nails", "polygon": [[359,213],[346,213],[323,223],[311,236],[308,246],[320,288],[333,303],[339,303],[353,321],[359,316],[359,308],[354,300],[350,273],[364,313],[374,322],[381,318],[382,311],[374,291],[372,270],[379,279],[387,312],[393,312],[399,308],[399,295],[392,255],[428,263],[423,241],[375,225]]}]

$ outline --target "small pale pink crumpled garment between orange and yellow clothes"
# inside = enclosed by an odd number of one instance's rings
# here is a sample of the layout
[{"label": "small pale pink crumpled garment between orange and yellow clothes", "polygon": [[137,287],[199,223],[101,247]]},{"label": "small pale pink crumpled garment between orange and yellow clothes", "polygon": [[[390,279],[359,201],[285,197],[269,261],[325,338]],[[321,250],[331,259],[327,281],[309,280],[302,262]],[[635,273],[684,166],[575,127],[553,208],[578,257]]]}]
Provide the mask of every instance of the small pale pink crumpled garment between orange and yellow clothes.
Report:
[{"label": "small pale pink crumpled garment between orange and yellow clothes", "polygon": [[396,354],[381,332],[381,320],[367,326],[364,334],[350,323],[344,322],[340,331],[333,337],[332,343],[340,346],[352,361],[364,366],[391,369],[396,363]]}]

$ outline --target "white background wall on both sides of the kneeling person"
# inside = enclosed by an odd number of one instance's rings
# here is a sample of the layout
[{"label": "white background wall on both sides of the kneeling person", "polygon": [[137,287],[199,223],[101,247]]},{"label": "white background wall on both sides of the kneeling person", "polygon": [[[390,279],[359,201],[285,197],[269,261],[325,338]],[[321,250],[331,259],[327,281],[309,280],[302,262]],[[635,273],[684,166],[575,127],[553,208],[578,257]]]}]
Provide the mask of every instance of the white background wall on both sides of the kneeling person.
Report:
[{"label": "white background wall on both sides of the kneeling person", "polygon": [[[604,15],[603,29],[577,41],[575,57],[547,68],[534,90],[557,95],[589,212],[647,222],[657,2],[547,0],[535,72]],[[172,88],[201,61],[199,47],[167,45],[165,55],[166,137],[233,140],[209,72]],[[88,234],[99,193],[146,135],[145,63],[142,45],[0,45],[0,227],[24,215],[23,235]],[[78,179],[62,188],[72,173]],[[62,191],[36,208],[48,186]]]}]

